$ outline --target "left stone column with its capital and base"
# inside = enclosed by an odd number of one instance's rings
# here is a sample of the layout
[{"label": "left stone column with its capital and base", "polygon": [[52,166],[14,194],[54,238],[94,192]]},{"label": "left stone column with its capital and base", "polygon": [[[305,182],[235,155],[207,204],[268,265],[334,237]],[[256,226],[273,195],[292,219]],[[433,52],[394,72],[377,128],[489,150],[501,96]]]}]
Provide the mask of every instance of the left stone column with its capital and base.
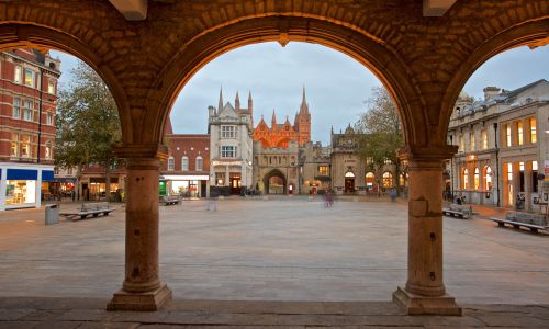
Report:
[{"label": "left stone column with its capital and base", "polygon": [[124,146],[126,181],[125,279],[107,305],[109,310],[157,310],[171,299],[158,271],[159,146]]}]

